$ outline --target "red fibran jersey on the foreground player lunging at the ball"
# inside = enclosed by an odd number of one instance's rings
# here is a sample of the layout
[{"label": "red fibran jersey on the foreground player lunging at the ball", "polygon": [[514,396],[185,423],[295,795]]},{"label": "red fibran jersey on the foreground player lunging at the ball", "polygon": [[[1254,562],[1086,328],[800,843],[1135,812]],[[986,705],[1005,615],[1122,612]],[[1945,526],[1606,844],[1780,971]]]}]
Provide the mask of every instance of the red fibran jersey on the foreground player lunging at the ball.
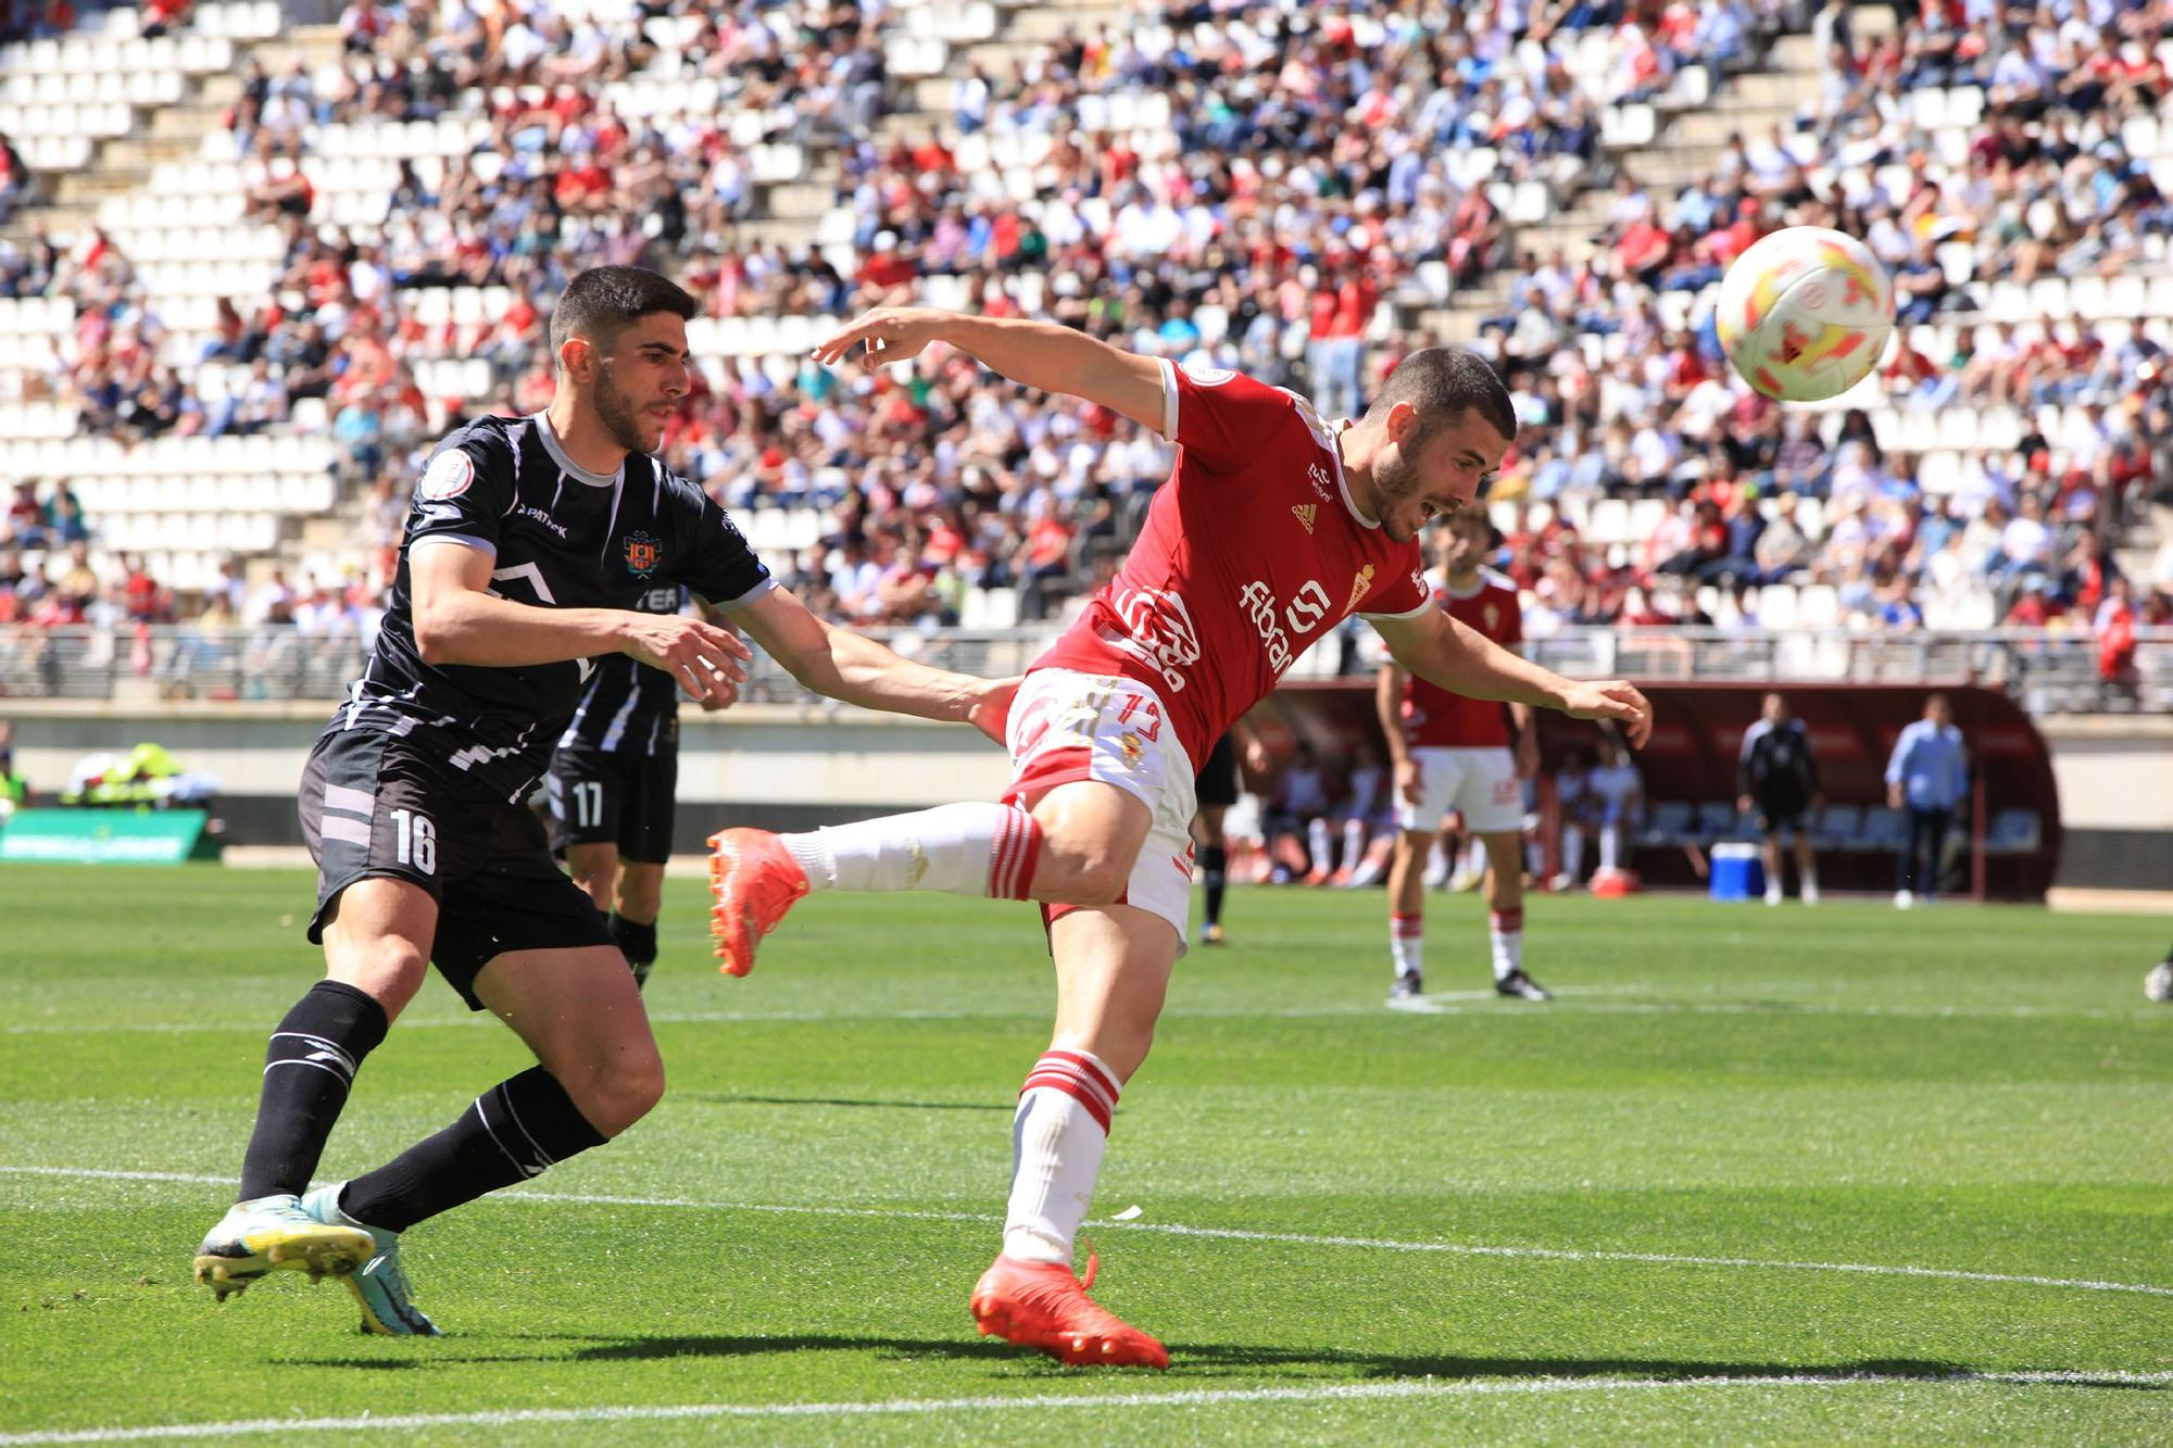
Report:
[{"label": "red fibran jersey on the foreground player lunging at the ball", "polygon": [[1336,624],[1432,594],[1417,539],[1358,513],[1336,430],[1297,394],[1165,361],[1163,435],[1178,461],[1147,526],[1034,667],[1136,678],[1197,765]]}]

